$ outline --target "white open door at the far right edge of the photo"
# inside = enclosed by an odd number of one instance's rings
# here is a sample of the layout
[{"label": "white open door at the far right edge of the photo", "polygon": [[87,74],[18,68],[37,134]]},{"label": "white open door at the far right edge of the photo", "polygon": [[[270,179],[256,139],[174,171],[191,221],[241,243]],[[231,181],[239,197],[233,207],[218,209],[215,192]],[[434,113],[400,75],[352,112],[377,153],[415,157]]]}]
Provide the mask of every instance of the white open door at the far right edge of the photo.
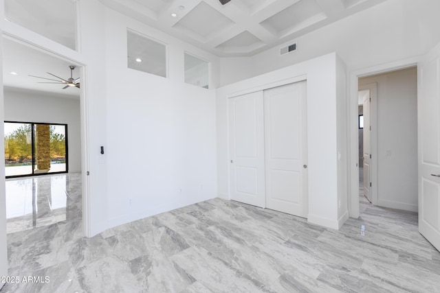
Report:
[{"label": "white open door at the far right edge of the photo", "polygon": [[440,44],[419,64],[419,231],[440,250]]}]

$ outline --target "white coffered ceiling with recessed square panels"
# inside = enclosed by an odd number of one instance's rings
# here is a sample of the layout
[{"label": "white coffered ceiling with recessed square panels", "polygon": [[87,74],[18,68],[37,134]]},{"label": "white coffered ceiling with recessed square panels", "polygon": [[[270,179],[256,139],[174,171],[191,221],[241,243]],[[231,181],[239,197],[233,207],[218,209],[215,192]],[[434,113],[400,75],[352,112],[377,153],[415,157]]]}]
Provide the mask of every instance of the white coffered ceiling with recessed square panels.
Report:
[{"label": "white coffered ceiling with recessed square panels", "polygon": [[100,0],[217,56],[252,56],[386,0]]}]

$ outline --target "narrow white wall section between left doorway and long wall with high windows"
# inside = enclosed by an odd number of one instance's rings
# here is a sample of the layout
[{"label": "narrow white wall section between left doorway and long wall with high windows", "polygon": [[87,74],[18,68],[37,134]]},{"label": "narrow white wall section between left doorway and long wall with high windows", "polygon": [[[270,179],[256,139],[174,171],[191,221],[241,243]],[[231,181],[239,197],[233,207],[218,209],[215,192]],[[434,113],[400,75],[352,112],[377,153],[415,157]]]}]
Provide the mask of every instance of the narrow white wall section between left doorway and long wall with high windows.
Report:
[{"label": "narrow white wall section between left doorway and long wall with high windows", "polygon": [[[88,236],[109,228],[107,205],[107,154],[100,154],[100,146],[107,147],[107,88],[105,72],[105,12],[97,0],[76,1],[79,6],[80,54],[72,57],[85,67],[81,77],[83,144],[83,222]],[[72,54],[72,53],[70,53]],[[111,69],[111,63],[109,65]],[[84,81],[83,81],[84,80]],[[84,85],[84,86],[83,86]],[[89,176],[85,171],[89,171]],[[85,183],[85,185],[84,185]]]}]

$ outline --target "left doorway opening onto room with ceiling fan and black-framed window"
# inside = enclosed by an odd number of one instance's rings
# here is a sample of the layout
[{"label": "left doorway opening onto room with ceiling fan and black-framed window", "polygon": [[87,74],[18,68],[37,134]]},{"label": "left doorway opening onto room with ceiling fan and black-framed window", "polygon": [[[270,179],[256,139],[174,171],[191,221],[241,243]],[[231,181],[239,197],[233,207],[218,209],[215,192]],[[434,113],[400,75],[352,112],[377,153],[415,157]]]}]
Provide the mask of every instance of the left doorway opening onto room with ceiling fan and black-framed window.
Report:
[{"label": "left doorway opening onto room with ceiling fan and black-framed window", "polygon": [[[75,67],[77,86],[35,78],[50,72],[67,80],[72,74],[70,67]],[[79,86],[83,72],[82,65],[74,60],[3,36],[4,159],[8,177],[3,180],[8,234],[55,223],[73,225],[79,235],[87,232],[83,229],[87,226],[87,188],[83,188],[87,182],[82,172],[87,159],[87,154],[82,154],[86,84]],[[17,144],[20,148],[14,149]],[[41,174],[45,176],[36,176]]]}]

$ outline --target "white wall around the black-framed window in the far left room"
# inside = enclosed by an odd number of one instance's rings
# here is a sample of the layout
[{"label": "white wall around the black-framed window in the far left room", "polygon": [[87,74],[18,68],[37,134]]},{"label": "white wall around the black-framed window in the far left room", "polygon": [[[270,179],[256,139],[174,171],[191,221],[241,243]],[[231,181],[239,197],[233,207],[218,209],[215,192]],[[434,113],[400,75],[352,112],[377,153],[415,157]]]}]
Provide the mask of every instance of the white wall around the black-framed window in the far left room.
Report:
[{"label": "white wall around the black-framed window in the far left room", "polygon": [[5,89],[4,113],[6,121],[67,124],[69,172],[81,172],[79,99]]}]

